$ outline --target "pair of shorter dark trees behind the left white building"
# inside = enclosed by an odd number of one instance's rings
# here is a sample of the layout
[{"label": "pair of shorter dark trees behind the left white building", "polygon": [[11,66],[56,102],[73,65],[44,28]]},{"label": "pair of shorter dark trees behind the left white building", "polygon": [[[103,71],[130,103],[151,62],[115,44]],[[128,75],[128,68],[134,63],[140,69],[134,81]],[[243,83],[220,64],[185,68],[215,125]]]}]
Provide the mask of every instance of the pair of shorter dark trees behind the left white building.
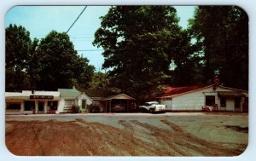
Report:
[{"label": "pair of shorter dark trees behind the left white building", "polygon": [[49,32],[31,41],[22,26],[6,28],[6,91],[88,88],[94,72],[77,54],[67,33]]}]

